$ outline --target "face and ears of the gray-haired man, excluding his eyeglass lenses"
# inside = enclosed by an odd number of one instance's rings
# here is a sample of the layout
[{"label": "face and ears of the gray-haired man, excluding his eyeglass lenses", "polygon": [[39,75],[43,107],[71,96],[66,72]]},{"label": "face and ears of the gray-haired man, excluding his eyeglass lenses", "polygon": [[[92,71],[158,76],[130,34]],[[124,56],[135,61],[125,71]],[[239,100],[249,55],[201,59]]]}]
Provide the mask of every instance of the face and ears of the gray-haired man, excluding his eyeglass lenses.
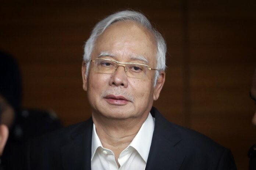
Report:
[{"label": "face and ears of the gray-haired man, excluding his eyeglass lenses", "polygon": [[[142,61],[141,56],[147,62]],[[113,23],[97,38],[91,58],[141,63],[156,68],[155,56],[153,35],[132,21],[121,21]],[[145,77],[138,79],[127,77],[122,66],[113,74],[98,73],[91,62],[86,77],[85,67],[83,64],[83,89],[87,91],[93,116],[109,119],[146,118],[164,84],[165,73],[160,73],[157,85],[153,86],[153,70],[147,70]]]}]

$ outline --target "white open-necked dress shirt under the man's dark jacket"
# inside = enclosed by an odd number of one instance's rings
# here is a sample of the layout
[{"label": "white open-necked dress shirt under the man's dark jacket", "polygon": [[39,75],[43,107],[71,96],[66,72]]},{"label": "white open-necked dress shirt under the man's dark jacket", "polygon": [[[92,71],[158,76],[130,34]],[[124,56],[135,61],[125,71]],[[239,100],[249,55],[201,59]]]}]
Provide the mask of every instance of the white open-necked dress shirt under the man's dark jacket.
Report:
[{"label": "white open-necked dress shirt under the man's dark jacket", "polygon": [[102,146],[93,123],[91,169],[145,170],[153,132],[154,118],[149,113],[132,142],[119,155],[118,163],[120,168],[118,169],[114,152]]}]

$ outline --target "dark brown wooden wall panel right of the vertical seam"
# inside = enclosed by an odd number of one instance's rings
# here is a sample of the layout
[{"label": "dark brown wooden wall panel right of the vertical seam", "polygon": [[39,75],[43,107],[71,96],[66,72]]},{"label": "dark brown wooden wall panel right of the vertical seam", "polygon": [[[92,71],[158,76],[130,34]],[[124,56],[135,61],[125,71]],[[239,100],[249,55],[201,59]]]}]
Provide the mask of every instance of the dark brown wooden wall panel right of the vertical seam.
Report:
[{"label": "dark brown wooden wall panel right of the vertical seam", "polygon": [[255,143],[249,99],[256,66],[255,6],[250,2],[190,1],[191,128],[228,147],[238,169]]}]

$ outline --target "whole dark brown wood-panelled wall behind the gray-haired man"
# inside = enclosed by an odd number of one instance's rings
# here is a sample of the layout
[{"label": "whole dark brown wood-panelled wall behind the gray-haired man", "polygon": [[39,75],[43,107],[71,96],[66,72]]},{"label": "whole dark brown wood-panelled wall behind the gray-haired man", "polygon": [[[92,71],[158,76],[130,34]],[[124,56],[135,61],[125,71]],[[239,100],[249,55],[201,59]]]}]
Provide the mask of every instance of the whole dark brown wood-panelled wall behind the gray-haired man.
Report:
[{"label": "whole dark brown wood-panelled wall behind the gray-haired man", "polygon": [[1,1],[0,48],[20,64],[23,106],[54,110],[64,125],[89,118],[83,44],[100,19],[128,8],[142,11],[167,41],[166,84],[154,106],[230,148],[238,169],[248,169],[256,143],[254,0]]}]

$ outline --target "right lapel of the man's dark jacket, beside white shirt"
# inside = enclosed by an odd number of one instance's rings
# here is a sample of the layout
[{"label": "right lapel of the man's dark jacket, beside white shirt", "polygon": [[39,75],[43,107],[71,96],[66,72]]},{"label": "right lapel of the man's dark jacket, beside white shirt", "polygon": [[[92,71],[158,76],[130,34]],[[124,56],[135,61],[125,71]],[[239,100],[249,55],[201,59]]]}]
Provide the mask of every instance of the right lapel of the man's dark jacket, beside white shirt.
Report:
[{"label": "right lapel of the man's dark jacket, beside white shirt", "polygon": [[155,128],[145,170],[179,170],[185,158],[177,147],[181,138],[156,108],[150,113],[155,117]]}]

